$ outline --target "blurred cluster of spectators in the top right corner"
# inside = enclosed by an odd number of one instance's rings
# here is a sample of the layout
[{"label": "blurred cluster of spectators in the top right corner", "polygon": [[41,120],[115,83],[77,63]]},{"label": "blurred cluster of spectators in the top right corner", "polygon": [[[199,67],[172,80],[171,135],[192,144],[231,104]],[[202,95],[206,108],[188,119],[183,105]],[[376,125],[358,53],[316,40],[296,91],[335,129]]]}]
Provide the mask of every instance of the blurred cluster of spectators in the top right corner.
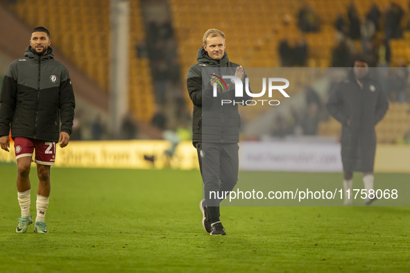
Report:
[{"label": "blurred cluster of spectators in the top right corner", "polygon": [[[405,19],[404,14],[402,7],[392,2],[384,11],[373,4],[366,16],[359,17],[351,3],[347,14],[339,13],[334,22],[338,42],[332,50],[332,67],[350,67],[359,56],[370,67],[389,67],[393,54],[391,39],[401,39],[403,31],[410,29],[410,18]],[[361,50],[355,42],[361,44]]]}]

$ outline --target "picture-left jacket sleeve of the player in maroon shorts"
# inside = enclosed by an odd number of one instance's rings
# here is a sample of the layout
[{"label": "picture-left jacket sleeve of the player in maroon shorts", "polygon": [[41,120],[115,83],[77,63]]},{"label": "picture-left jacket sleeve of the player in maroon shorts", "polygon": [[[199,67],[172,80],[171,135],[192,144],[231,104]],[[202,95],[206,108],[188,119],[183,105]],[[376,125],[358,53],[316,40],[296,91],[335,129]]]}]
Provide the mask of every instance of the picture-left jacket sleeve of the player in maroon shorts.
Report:
[{"label": "picture-left jacket sleeve of the player in maroon shorts", "polygon": [[0,94],[0,136],[8,136],[10,123],[15,112],[17,97],[17,76],[12,65],[7,68]]}]

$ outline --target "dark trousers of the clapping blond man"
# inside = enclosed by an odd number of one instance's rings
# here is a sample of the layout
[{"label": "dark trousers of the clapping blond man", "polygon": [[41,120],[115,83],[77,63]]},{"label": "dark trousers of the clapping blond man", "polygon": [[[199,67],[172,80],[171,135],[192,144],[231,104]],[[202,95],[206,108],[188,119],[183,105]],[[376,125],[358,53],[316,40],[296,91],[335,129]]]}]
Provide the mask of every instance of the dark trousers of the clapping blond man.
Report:
[{"label": "dark trousers of the clapping blond man", "polygon": [[219,203],[229,196],[238,181],[238,143],[197,143],[205,204],[210,218],[219,218]]}]

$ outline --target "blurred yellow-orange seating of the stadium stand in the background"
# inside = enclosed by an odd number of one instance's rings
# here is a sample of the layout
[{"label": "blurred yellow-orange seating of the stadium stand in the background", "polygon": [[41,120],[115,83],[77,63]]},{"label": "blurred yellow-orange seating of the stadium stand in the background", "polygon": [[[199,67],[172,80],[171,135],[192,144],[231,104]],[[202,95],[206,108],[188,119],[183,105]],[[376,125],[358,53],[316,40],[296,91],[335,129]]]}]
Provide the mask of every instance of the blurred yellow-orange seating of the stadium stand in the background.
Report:
[{"label": "blurred yellow-orange seating of the stadium stand in the background", "polygon": [[[223,8],[214,8],[212,3],[198,0],[168,0],[171,10],[172,24],[178,39],[178,60],[180,62],[180,78],[185,82],[187,70],[196,62],[196,51],[202,45],[201,37],[212,26],[220,28],[227,37],[227,52],[230,59],[244,67],[280,67],[278,46],[282,39],[295,43],[298,39],[307,42],[307,67],[325,68],[332,64],[332,49],[336,45],[334,22],[339,13],[347,19],[348,7],[353,3],[359,18],[366,17],[370,6],[375,3],[384,14],[391,5],[390,0],[226,0]],[[410,31],[405,26],[409,15],[407,0],[396,0],[405,16],[402,19],[404,29],[402,38],[391,39],[391,67],[408,66],[410,64]],[[42,4],[44,21],[39,21],[33,10]],[[298,12],[305,4],[309,5],[319,19],[317,32],[302,32],[298,28]],[[137,42],[146,38],[141,12],[141,0],[130,1],[130,109],[141,121],[149,121],[155,108],[155,93],[150,70],[150,60],[146,56],[137,56]],[[53,43],[70,56],[89,78],[98,82],[108,91],[109,78],[109,44],[110,35],[110,1],[109,0],[19,0],[9,5],[17,15],[30,26],[44,24],[53,33]],[[67,8],[67,6],[69,8]],[[383,16],[375,39],[382,39]],[[361,53],[361,41],[353,41],[357,53]],[[234,45],[234,46],[233,46]],[[320,70],[317,70],[320,71]],[[300,71],[299,71],[300,72]],[[312,79],[320,78],[323,73],[289,72],[287,78],[295,82],[297,92],[302,91]],[[191,102],[187,96],[187,108]],[[293,96],[295,94],[291,94]],[[409,104],[392,103],[386,118],[377,126],[378,141],[391,143],[400,139],[403,132],[409,130]],[[250,109],[246,109],[250,111]],[[244,117],[252,120],[262,110],[252,108]],[[321,122],[318,134],[338,136],[340,125],[330,119]]]}]

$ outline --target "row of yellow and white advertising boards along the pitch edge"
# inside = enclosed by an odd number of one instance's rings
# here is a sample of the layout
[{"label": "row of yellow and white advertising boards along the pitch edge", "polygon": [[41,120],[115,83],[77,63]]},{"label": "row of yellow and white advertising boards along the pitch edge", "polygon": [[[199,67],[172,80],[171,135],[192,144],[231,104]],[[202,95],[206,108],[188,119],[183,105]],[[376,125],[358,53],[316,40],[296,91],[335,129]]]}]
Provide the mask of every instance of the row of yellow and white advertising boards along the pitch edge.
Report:
[{"label": "row of yellow and white advertising boards along the pitch edge", "polygon": [[[241,170],[340,172],[339,143],[286,143],[243,141]],[[168,141],[71,141],[58,148],[55,166],[79,168],[176,168],[197,169],[198,158],[191,141],[180,143],[172,157]],[[379,144],[375,172],[410,173],[410,146]],[[149,161],[144,157],[153,157]],[[0,151],[0,163],[15,162],[14,148]]]}]

